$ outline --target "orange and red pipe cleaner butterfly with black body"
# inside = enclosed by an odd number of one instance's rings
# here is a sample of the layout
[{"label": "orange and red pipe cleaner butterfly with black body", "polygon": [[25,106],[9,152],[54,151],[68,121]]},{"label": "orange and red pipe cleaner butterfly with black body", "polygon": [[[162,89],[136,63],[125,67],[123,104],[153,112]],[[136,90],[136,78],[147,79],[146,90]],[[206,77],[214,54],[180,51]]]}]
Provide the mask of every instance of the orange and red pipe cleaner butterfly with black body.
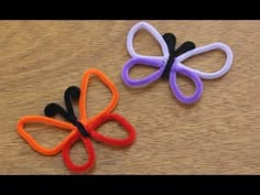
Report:
[{"label": "orange and red pipe cleaner butterfly with black body", "polygon": [[[100,80],[110,89],[112,94],[111,101],[109,105],[96,116],[88,118],[86,111],[86,97],[88,90],[88,82],[90,76],[97,76]],[[62,151],[62,156],[65,165],[73,172],[84,172],[91,169],[95,164],[95,150],[91,143],[91,139],[98,142],[112,145],[112,147],[127,147],[133,143],[136,139],[134,128],[120,115],[112,113],[119,99],[119,93],[112,82],[110,82],[107,76],[98,69],[88,69],[82,79],[80,89],[75,86],[71,86],[64,93],[64,100],[66,109],[59,105],[52,102],[48,104],[45,109],[44,116],[26,116],[22,117],[18,122],[18,133],[39,153],[44,155],[55,155]],[[74,113],[72,100],[78,100],[79,107],[79,118]],[[53,119],[55,115],[59,113],[66,121],[59,121]],[[116,139],[111,137],[104,136],[97,132],[97,129],[107,121],[116,121],[122,126],[127,131],[128,136],[123,139]],[[35,139],[25,131],[24,126],[28,123],[46,123],[67,131],[69,134],[56,147],[47,149],[42,147],[35,141]],[[73,144],[82,140],[86,152],[88,153],[88,161],[82,165],[76,165],[73,163],[69,156],[69,151]]]}]

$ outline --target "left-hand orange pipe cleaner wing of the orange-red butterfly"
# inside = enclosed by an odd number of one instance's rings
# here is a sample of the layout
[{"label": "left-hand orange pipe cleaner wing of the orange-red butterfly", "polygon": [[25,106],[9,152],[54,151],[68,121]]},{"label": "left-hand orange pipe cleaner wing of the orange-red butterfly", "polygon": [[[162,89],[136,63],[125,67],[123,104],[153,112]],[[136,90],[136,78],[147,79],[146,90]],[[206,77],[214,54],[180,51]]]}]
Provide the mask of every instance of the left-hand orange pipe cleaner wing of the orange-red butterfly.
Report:
[{"label": "left-hand orange pipe cleaner wing of the orange-red butterfly", "polygon": [[[29,123],[43,123],[43,124],[50,124],[56,128],[61,128],[64,130],[72,131],[61,143],[55,145],[52,149],[47,149],[40,143],[36,142],[36,140],[25,130],[25,126]],[[43,117],[43,116],[26,116],[22,117],[18,121],[18,133],[28,141],[28,143],[39,153],[44,154],[44,155],[54,155],[58,153],[64,144],[72,138],[74,137],[75,133],[77,133],[75,127],[68,122],[63,122],[56,119],[52,119],[48,117]]]}]

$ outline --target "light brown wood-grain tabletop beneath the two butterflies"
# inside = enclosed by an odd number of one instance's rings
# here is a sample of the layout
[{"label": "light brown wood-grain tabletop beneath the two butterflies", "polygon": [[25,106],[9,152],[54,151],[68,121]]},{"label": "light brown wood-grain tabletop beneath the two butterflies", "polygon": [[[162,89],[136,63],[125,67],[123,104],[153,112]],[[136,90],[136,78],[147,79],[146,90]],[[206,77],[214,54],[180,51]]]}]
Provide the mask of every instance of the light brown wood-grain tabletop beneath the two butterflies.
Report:
[{"label": "light brown wood-grain tabletop beneath the two butterflies", "polygon": [[[17,132],[22,116],[43,115],[46,104],[63,102],[63,93],[79,85],[85,71],[102,71],[117,86],[115,110],[137,130],[130,148],[115,150],[95,143],[90,174],[259,174],[260,173],[260,22],[259,21],[148,21],[160,33],[173,32],[177,45],[223,42],[234,52],[231,69],[220,79],[203,80],[202,99],[193,106],[177,102],[169,82],[145,88],[123,85],[120,72],[129,59],[126,39],[138,21],[1,21],[0,22],[0,174],[72,174],[55,156],[39,154]],[[137,34],[139,53],[160,55],[158,43],[144,31]],[[217,71],[225,54],[216,51],[187,59],[188,66]],[[133,77],[152,73],[137,67]],[[193,84],[178,76],[191,94]],[[97,79],[90,80],[89,116],[99,112],[111,95]],[[67,136],[35,124],[26,129],[43,145],[53,147]],[[121,138],[113,122],[100,132]],[[72,150],[83,163],[83,144]],[[86,174],[86,173],[85,173]]]}]

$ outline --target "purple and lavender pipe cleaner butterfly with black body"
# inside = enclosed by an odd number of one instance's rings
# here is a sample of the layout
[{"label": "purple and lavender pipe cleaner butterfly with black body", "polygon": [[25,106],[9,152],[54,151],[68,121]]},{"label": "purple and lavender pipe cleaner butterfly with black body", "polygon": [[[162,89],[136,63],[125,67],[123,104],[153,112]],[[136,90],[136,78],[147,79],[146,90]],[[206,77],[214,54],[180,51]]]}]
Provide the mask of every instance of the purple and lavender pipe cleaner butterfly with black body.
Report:
[{"label": "purple and lavender pipe cleaner butterfly with black body", "polygon": [[[133,48],[133,37],[136,33],[141,29],[147,30],[159,42],[163,56],[148,56],[136,53]],[[127,48],[131,58],[124,64],[121,72],[121,77],[124,84],[129,87],[137,88],[148,86],[149,84],[162,77],[169,78],[172,94],[181,102],[189,105],[197,101],[202,96],[202,78],[214,79],[221,77],[231,67],[232,52],[226,44],[213,43],[195,48],[195,44],[193,42],[185,42],[177,50],[175,50],[175,44],[176,37],[174,34],[166,33],[164,35],[161,35],[152,25],[147,22],[139,22],[133,25],[129,31],[127,37]],[[205,73],[195,68],[187,67],[183,64],[183,61],[194,55],[203,54],[214,50],[221,50],[226,54],[226,62],[224,66],[215,73]],[[138,64],[156,67],[159,69],[144,78],[133,79],[130,77],[130,69]],[[185,96],[180,90],[176,82],[177,73],[191,78],[195,84],[195,91],[192,96]]]}]

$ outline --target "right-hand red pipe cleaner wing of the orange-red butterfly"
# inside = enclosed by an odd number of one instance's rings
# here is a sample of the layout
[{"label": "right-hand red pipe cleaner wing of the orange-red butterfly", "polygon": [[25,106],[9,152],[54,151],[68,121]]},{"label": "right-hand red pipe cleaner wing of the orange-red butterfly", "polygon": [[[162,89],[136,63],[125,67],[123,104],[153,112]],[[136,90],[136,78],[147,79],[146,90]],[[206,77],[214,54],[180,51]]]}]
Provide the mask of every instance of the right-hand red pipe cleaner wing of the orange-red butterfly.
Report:
[{"label": "right-hand red pipe cleaner wing of the orange-red butterfly", "polygon": [[[116,139],[111,137],[104,136],[96,130],[108,121],[116,121],[118,122],[123,130],[128,133],[128,136],[123,139]],[[136,139],[136,130],[134,128],[120,115],[117,113],[107,113],[95,120],[90,124],[86,126],[87,129],[90,131],[91,138],[102,143],[113,145],[113,147],[127,147],[133,143]]]}]

